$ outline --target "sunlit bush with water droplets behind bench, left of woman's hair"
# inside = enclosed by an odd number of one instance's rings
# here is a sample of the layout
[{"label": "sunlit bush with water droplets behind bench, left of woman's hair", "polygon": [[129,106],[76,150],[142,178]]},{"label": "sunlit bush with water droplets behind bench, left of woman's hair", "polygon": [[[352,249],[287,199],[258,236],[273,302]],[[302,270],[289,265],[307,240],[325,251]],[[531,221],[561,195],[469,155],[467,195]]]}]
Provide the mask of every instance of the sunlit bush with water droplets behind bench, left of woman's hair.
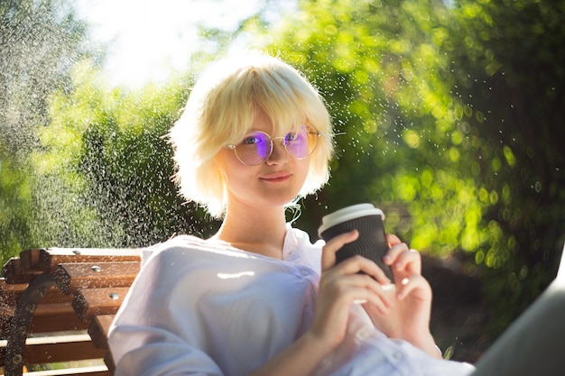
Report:
[{"label": "sunlit bush with water droplets behind bench, left of woman's hair", "polygon": [[88,61],[72,78],[72,91],[51,96],[51,124],[42,128],[43,148],[33,160],[36,170],[76,189],[71,212],[86,220],[72,224],[88,231],[73,242],[144,246],[175,233],[212,231],[177,195],[171,148],[163,139],[186,102],[186,80],[125,92],[107,87]]}]

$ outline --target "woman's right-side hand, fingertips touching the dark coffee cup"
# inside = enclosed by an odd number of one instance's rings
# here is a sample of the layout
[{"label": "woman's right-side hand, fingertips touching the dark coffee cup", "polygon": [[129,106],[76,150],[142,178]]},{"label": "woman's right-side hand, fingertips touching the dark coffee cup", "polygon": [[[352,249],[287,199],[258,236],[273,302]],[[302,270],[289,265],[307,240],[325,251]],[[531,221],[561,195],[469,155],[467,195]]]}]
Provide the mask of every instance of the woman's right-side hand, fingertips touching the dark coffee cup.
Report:
[{"label": "woman's right-side hand, fingertips touching the dark coffee cup", "polygon": [[367,302],[364,307],[375,326],[389,338],[400,338],[440,357],[430,333],[431,287],[421,276],[420,253],[408,248],[394,235],[387,235],[391,245],[384,256],[394,274],[395,292],[386,311]]}]

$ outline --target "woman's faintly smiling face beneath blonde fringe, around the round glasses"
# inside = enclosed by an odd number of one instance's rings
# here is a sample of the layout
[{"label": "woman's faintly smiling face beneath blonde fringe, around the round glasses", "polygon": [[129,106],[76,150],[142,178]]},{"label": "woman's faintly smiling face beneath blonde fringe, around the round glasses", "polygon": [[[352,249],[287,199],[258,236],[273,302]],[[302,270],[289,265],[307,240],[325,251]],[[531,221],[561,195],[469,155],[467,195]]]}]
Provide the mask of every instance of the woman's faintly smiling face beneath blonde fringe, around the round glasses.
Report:
[{"label": "woman's faintly smiling face beneath blonde fringe, around the round glasses", "polygon": [[[258,112],[250,132],[261,131],[272,137],[273,123]],[[236,205],[250,208],[284,206],[298,195],[308,174],[310,157],[297,160],[281,144],[282,139],[273,140],[273,152],[263,163],[247,166],[237,159],[235,151],[222,148],[218,162],[227,177],[227,209]]]}]

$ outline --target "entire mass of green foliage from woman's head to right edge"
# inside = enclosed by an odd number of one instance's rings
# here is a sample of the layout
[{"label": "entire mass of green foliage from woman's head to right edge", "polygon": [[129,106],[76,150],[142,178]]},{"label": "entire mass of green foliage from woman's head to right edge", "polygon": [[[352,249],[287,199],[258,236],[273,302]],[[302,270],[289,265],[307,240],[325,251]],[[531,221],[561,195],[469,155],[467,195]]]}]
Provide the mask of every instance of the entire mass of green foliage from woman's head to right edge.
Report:
[{"label": "entire mass of green foliage from woman's head to right edge", "polygon": [[414,248],[473,254],[496,335],[553,278],[564,240],[564,6],[300,7],[267,48],[320,87],[344,134],[299,224],[316,236],[330,209],[371,201]]}]

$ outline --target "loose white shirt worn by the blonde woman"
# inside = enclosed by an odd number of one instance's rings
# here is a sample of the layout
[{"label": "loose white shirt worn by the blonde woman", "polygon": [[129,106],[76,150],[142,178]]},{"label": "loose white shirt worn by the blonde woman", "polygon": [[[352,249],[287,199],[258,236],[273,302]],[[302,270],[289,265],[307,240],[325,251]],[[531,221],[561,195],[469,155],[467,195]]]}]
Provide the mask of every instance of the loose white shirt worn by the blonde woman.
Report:
[{"label": "loose white shirt worn by the blonde woman", "polygon": [[[116,376],[244,376],[310,327],[320,241],[292,229],[283,261],[182,235],[153,246],[110,329]],[[347,337],[316,375],[462,376],[467,363],[432,358],[351,306]],[[292,375],[289,375],[292,376]]]}]

